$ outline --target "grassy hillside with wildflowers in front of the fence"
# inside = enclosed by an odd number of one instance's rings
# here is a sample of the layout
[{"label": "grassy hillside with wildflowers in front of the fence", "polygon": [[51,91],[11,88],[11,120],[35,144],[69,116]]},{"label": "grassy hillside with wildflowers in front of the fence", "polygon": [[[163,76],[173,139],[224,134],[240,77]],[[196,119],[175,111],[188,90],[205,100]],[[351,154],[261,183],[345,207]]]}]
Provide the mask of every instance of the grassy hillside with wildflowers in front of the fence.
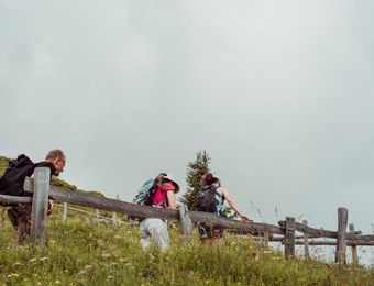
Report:
[{"label": "grassy hillside with wildflowers in front of the fence", "polygon": [[187,244],[175,223],[169,250],[144,251],[136,226],[88,224],[81,215],[69,216],[77,219],[63,223],[56,208],[48,217],[45,250],[14,249],[14,230],[0,208],[0,285],[374,285],[373,270],[286,261],[250,237],[228,234],[217,248],[194,233]]}]

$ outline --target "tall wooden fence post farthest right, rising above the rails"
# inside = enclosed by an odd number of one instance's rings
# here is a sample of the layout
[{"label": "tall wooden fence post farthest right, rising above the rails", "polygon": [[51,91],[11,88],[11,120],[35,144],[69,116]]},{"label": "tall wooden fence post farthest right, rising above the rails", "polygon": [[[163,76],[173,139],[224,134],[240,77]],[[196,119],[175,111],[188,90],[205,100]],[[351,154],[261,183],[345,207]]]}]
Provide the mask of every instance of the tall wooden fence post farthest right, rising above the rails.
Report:
[{"label": "tall wooden fence post farthest right, rising above the rails", "polygon": [[336,263],[338,263],[340,266],[345,265],[346,224],[348,224],[348,209],[339,208]]}]

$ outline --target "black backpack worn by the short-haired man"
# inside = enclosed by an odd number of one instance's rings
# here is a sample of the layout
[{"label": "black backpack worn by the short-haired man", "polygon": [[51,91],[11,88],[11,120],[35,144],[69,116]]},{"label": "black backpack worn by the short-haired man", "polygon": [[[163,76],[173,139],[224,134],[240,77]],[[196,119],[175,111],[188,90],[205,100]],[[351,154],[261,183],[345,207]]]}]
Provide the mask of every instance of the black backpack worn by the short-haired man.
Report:
[{"label": "black backpack worn by the short-haired man", "polygon": [[9,196],[23,196],[23,184],[26,177],[34,172],[34,163],[24,154],[9,162],[9,167],[0,178],[0,194]]}]

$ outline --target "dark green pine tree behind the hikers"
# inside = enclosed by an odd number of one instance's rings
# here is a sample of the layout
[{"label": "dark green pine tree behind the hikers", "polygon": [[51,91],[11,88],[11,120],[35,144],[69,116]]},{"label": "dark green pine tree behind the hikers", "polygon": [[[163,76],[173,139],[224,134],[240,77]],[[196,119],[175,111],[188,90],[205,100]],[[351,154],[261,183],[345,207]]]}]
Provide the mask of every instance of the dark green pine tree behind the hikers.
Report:
[{"label": "dark green pine tree behind the hikers", "polygon": [[182,204],[187,205],[189,210],[196,210],[196,197],[200,190],[200,178],[209,172],[210,157],[206,151],[199,151],[196,160],[187,165],[187,191],[180,199]]}]

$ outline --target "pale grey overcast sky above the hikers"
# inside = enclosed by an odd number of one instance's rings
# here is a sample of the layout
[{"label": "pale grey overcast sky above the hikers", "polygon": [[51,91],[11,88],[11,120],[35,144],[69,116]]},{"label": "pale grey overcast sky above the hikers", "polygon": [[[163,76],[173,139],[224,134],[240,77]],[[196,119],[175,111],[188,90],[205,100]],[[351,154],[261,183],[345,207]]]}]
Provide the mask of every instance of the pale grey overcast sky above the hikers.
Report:
[{"label": "pale grey overcast sky above the hikers", "polygon": [[[374,2],[0,0],[0,154],[131,201],[207,151],[240,209],[373,232]],[[179,195],[180,196],[180,195]]]}]

